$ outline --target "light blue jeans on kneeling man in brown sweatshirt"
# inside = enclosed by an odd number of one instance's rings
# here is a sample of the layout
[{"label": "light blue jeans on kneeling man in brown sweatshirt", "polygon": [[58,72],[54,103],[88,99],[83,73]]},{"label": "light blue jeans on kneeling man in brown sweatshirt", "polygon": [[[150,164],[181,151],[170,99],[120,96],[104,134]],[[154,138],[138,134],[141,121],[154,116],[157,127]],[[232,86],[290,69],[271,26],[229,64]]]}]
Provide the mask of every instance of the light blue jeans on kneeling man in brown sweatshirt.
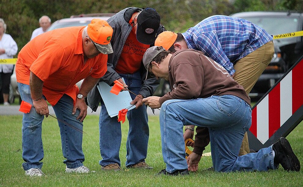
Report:
[{"label": "light blue jeans on kneeling man in brown sweatshirt", "polygon": [[161,106],[160,130],[166,171],[187,169],[183,125],[207,127],[215,171],[276,169],[272,147],[239,156],[244,133],[251,125],[251,107],[233,95],[191,100],[172,99]]}]

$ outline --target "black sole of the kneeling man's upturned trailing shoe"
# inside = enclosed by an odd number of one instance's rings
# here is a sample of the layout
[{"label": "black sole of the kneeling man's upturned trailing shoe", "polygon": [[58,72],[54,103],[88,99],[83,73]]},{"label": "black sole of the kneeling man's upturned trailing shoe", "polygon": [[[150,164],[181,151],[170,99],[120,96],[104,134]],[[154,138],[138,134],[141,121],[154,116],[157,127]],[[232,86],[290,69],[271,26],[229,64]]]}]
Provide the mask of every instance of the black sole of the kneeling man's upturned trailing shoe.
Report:
[{"label": "black sole of the kneeling man's upturned trailing shoe", "polygon": [[279,142],[283,148],[283,150],[287,153],[287,156],[290,158],[290,162],[292,164],[292,168],[287,171],[300,171],[300,161],[297,156],[294,154],[293,149],[290,146],[288,140],[284,137],[279,139]]}]

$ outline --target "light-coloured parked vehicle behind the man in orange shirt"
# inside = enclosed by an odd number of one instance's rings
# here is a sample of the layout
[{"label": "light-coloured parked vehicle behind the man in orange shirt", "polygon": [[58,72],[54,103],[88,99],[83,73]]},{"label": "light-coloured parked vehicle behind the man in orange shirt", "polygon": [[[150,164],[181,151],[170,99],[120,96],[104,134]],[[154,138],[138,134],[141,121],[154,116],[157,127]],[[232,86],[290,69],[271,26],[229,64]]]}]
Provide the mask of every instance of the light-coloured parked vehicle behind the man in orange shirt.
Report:
[{"label": "light-coloured parked vehicle behind the man in orange shirt", "polygon": [[[51,31],[63,27],[86,26],[94,18],[108,20],[113,15],[115,15],[115,13],[92,13],[92,14],[80,14],[77,16],[71,16],[70,18],[63,18],[55,21],[53,24],[50,25],[47,31]],[[77,86],[80,88],[81,84],[82,84],[82,80],[77,83]],[[10,96],[10,102],[12,103],[15,97],[20,97],[15,70],[13,71],[13,74],[11,76],[11,89],[13,95]]]}]

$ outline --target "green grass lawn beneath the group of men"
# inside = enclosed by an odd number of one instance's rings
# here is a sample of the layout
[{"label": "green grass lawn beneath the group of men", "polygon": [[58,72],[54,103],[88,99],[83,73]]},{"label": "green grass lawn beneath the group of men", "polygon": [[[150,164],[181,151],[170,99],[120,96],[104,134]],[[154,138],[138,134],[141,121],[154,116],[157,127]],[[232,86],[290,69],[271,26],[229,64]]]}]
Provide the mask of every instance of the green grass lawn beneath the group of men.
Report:
[{"label": "green grass lawn beneath the group of men", "polygon": [[[159,132],[159,117],[150,116],[150,137],[148,157],[146,162],[153,166],[153,170],[125,170],[125,142],[128,132],[128,122],[122,124],[122,146],[120,159],[122,171],[104,172],[100,170],[99,160],[99,128],[98,116],[87,116],[84,121],[83,150],[84,165],[95,173],[66,174],[61,149],[61,140],[57,121],[46,118],[43,121],[43,177],[27,177],[21,168],[22,116],[0,116],[0,186],[302,186],[303,172],[286,172],[280,167],[269,172],[235,172],[217,173],[205,171],[212,166],[211,157],[202,157],[199,171],[190,176],[155,176],[154,174],[165,168],[161,153],[161,139]],[[303,123],[299,124],[287,139],[290,141],[299,160],[303,160]],[[207,147],[205,152],[209,152]]]}]

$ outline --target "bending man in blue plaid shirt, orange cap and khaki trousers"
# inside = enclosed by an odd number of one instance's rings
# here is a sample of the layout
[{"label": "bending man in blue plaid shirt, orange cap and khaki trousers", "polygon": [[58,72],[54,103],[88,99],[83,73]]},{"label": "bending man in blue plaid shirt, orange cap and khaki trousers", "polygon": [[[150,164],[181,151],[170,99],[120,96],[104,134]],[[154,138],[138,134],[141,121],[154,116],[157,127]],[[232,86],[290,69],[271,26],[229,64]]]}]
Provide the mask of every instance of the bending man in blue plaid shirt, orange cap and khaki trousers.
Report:
[{"label": "bending man in blue plaid shirt, orange cap and khaki trousers", "polygon": [[[202,20],[184,33],[162,32],[155,40],[155,46],[163,46],[172,54],[188,48],[204,52],[222,65],[249,94],[272,59],[272,39],[273,36],[250,21],[215,15]],[[191,129],[193,128],[186,129],[184,139],[193,138],[194,132]],[[206,128],[205,135],[207,133]],[[208,143],[209,141],[205,141],[206,145]],[[189,145],[193,144],[187,144]],[[249,144],[245,133],[239,155],[247,153]]]}]

